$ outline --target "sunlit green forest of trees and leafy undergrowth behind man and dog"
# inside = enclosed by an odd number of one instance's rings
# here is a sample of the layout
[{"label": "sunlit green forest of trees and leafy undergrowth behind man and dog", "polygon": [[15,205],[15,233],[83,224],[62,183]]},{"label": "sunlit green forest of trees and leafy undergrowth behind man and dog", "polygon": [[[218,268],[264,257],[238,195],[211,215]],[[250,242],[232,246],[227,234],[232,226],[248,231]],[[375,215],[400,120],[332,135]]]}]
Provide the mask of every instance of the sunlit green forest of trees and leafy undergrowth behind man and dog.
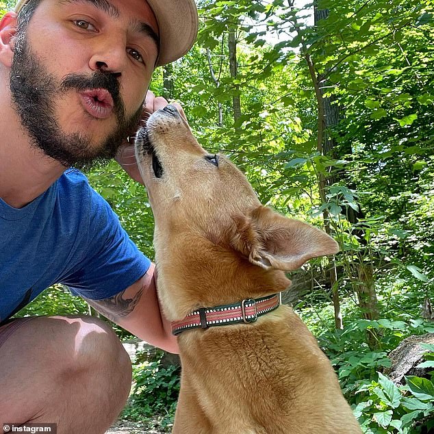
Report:
[{"label": "sunlit green forest of trees and leafy undergrowth behind man and dog", "polygon": [[[0,0],[0,16],[13,3]],[[331,359],[366,433],[434,428],[434,346],[424,346],[425,377],[392,383],[385,374],[402,340],[434,333],[433,5],[200,0],[198,41],[151,85],[181,102],[199,142],[228,155],[264,205],[340,242],[334,258],[290,276],[285,299]],[[144,188],[114,162],[87,175],[152,258]],[[58,287],[19,315],[88,310]],[[124,417],[160,413],[170,429],[179,368],[157,357],[138,361],[134,375]]]}]

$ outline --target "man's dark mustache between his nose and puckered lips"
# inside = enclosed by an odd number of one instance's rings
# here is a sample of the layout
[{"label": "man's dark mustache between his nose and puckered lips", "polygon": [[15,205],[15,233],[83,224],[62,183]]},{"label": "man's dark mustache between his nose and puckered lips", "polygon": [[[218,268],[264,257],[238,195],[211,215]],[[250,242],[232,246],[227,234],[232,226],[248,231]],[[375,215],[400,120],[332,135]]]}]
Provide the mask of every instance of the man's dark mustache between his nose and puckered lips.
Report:
[{"label": "man's dark mustache between his nose and puckered lips", "polygon": [[112,95],[114,103],[114,112],[118,119],[125,117],[125,105],[120,97],[120,84],[118,75],[115,73],[106,73],[105,71],[97,71],[92,75],[84,74],[68,74],[62,79],[61,89],[66,90],[92,90],[105,89]]}]

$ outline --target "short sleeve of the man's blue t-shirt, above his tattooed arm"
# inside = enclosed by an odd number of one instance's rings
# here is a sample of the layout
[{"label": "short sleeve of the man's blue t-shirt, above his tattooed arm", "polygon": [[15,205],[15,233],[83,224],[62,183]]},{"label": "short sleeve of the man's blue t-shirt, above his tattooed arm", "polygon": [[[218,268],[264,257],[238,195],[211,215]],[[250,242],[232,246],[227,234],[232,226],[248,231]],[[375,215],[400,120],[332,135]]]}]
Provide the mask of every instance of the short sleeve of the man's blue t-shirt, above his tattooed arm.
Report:
[{"label": "short sleeve of the man's blue t-shirt, above his tattooed arm", "polygon": [[75,295],[102,300],[138,281],[151,261],[130,240],[110,205],[90,190],[87,246],[76,270],[62,283]]}]

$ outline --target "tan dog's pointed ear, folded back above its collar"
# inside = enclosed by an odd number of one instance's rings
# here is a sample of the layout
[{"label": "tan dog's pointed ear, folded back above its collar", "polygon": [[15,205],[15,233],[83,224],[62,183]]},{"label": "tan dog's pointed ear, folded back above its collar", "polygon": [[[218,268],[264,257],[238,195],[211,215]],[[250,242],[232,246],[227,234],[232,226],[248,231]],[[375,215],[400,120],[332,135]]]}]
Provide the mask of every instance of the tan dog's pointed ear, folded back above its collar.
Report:
[{"label": "tan dog's pointed ear, folded back above its collar", "polygon": [[231,246],[266,270],[296,270],[313,257],[339,251],[327,233],[268,207],[257,207],[248,216],[234,216],[233,220],[236,231]]}]

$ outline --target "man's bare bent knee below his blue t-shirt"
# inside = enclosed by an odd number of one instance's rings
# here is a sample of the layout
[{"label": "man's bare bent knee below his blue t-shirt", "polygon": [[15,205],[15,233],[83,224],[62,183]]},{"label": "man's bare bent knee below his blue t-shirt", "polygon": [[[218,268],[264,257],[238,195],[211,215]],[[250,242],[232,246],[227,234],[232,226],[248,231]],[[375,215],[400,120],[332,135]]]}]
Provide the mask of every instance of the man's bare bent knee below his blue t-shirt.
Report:
[{"label": "man's bare bent knee below his blue t-shirt", "polygon": [[116,334],[86,316],[23,322],[1,347],[0,366],[0,401],[7,404],[0,420],[37,418],[58,423],[62,432],[70,432],[73,422],[80,427],[76,432],[91,432],[90,426],[103,432],[131,387],[131,363]]}]

